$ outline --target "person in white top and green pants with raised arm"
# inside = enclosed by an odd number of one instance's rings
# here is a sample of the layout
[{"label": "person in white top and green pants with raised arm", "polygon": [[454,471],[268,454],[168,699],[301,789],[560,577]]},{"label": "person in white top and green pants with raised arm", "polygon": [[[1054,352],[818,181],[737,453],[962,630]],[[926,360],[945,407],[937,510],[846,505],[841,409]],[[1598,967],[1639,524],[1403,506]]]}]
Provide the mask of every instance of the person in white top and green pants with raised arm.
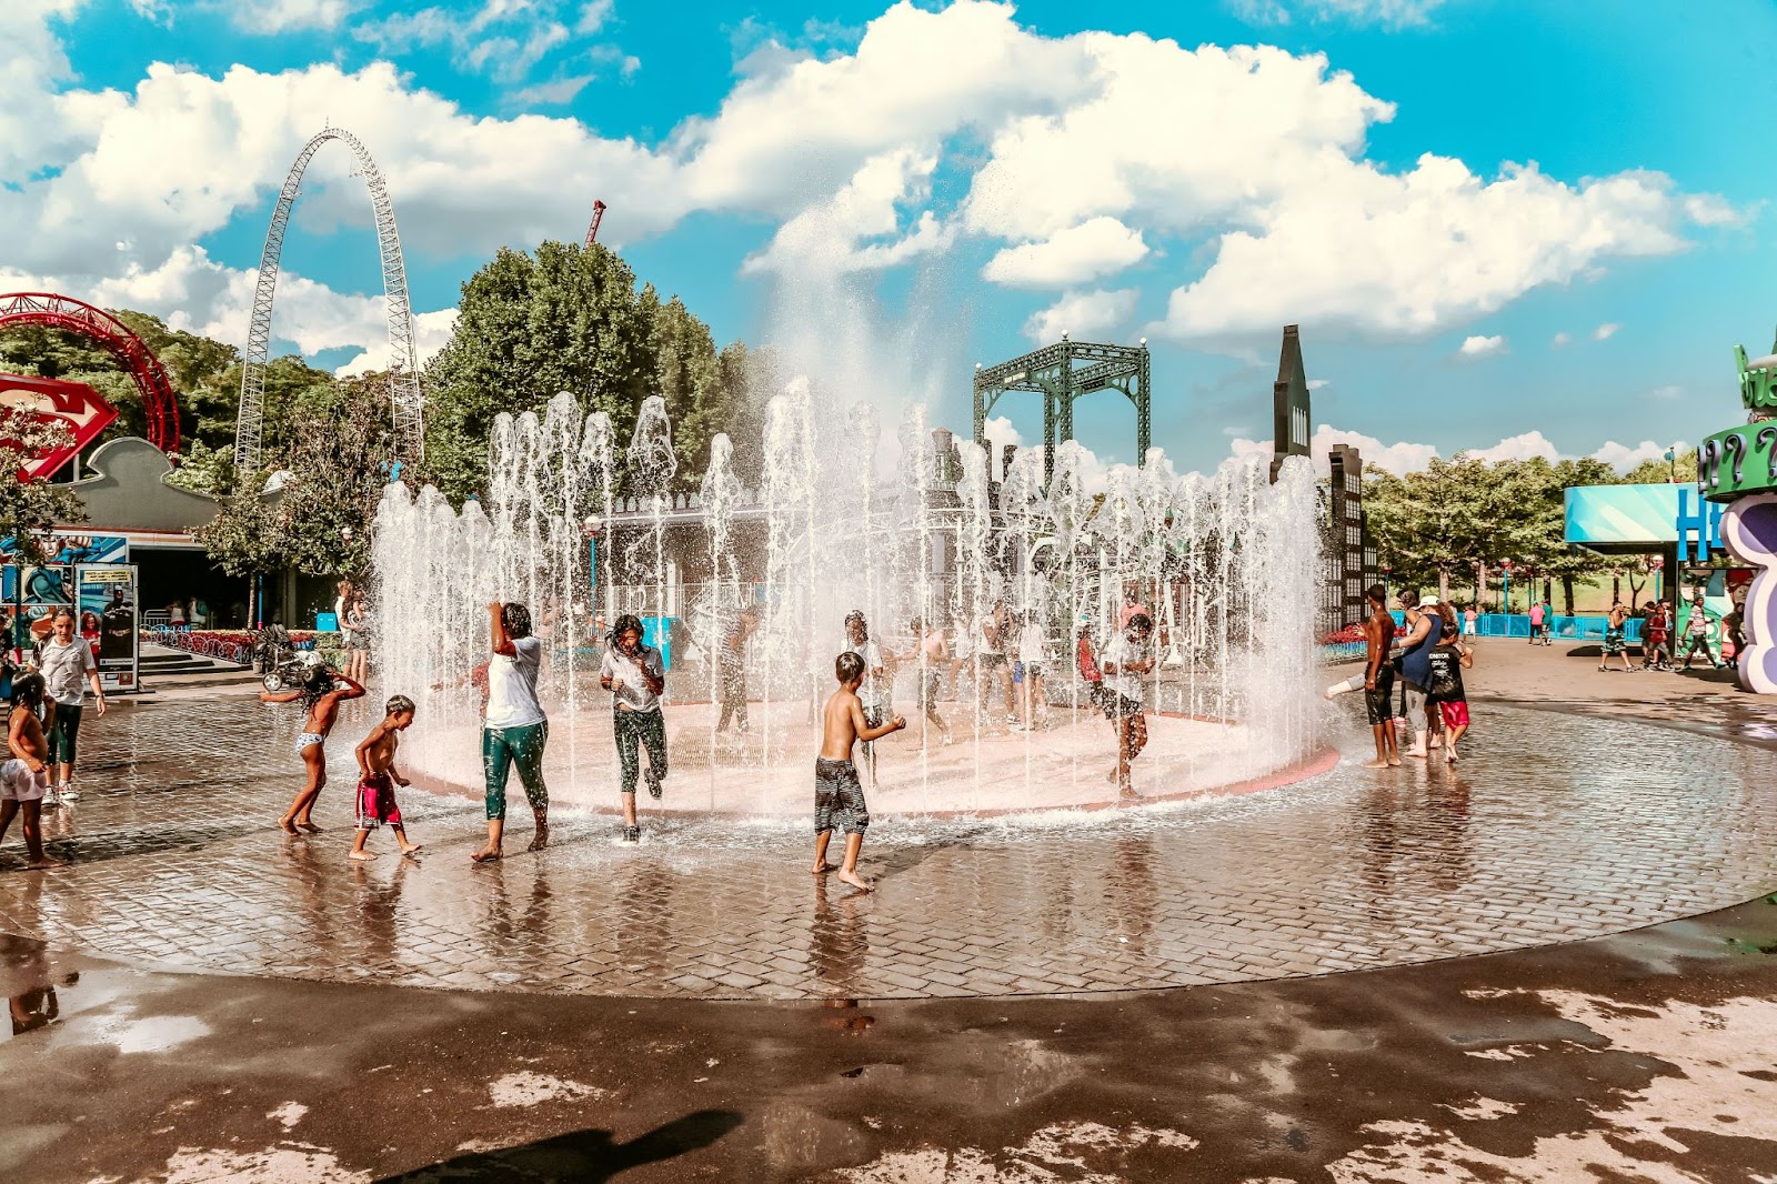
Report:
[{"label": "person in white top and green pants with raised arm", "polygon": [[544,786],[544,747],[549,718],[537,700],[537,674],[544,644],[531,636],[531,613],[524,604],[487,606],[494,656],[487,663],[487,713],[482,720],[482,775],[487,780],[487,846],[471,855],[478,864],[499,859],[506,828],[506,777],[519,766],[519,782],[537,816],[537,834],[528,850],[549,844],[549,789]]}]

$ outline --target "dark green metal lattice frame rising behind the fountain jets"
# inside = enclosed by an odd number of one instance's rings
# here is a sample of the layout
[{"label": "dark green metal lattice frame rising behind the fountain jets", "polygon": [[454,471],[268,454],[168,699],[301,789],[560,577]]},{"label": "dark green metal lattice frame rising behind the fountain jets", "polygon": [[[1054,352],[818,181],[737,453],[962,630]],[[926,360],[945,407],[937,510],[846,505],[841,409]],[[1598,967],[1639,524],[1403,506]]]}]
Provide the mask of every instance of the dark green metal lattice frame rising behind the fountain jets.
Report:
[{"label": "dark green metal lattice frame rising behind the fountain jets", "polygon": [[1043,480],[1056,471],[1056,444],[1073,439],[1073,400],[1096,391],[1123,391],[1136,404],[1136,455],[1146,464],[1153,443],[1148,395],[1148,338],[1141,345],[1070,341],[1013,357],[997,366],[976,366],[976,443],[986,446],[988,414],[1011,391],[1043,396]]}]

